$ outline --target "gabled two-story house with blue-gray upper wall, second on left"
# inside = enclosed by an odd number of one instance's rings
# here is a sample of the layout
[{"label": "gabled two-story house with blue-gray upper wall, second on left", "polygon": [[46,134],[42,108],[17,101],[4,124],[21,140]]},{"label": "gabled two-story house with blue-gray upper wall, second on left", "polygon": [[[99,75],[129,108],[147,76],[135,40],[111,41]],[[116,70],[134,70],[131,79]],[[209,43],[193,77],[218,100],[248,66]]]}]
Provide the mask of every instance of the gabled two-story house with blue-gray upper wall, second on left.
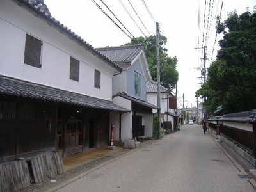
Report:
[{"label": "gabled two-story house with blue-gray upper wall, second on left", "polygon": [[97,50],[122,67],[122,73],[113,77],[113,102],[131,110],[122,115],[111,112],[111,118],[116,120],[115,143],[121,144],[125,138],[153,137],[152,110],[158,108],[147,102],[147,81],[151,75],[143,48],[128,45]]}]

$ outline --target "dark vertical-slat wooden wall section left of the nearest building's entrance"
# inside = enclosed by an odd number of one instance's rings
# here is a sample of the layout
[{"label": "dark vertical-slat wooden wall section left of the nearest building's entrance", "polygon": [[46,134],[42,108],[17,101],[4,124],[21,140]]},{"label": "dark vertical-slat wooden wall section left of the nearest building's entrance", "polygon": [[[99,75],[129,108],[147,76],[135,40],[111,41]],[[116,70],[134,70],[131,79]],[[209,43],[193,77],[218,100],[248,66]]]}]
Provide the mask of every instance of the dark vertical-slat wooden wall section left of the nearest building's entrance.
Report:
[{"label": "dark vertical-slat wooden wall section left of the nearest building's entrance", "polygon": [[29,100],[0,100],[0,163],[55,148],[56,106]]}]

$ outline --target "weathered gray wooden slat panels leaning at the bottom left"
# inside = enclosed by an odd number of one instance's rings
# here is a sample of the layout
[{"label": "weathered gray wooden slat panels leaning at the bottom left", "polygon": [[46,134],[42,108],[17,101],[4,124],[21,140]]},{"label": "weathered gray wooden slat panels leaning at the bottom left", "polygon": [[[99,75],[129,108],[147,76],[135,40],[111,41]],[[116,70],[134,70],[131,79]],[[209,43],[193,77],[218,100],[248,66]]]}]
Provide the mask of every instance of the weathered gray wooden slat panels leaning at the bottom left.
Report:
[{"label": "weathered gray wooden slat panels leaning at the bottom left", "polygon": [[[30,165],[32,173],[29,173]],[[63,172],[59,152],[3,163],[0,164],[0,192],[19,191],[27,188],[31,182],[42,182]]]}]

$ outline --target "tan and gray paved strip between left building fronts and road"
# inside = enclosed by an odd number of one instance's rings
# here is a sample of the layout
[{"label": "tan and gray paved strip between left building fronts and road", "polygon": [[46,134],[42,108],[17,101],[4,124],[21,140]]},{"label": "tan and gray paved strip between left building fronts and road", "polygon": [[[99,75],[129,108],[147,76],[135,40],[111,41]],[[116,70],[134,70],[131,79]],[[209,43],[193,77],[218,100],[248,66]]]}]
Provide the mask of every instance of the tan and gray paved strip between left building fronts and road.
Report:
[{"label": "tan and gray paved strip between left building fronts and road", "polygon": [[104,166],[104,164],[111,163],[125,154],[129,154],[138,150],[141,147],[150,145],[157,140],[148,140],[141,143],[140,147],[134,149],[124,149],[123,147],[116,146],[115,150],[109,150],[108,147],[97,148],[83,154],[74,154],[63,158],[63,164],[65,172],[61,175],[57,175],[54,178],[45,180],[38,184],[31,184],[28,188],[20,190],[20,192],[31,192],[31,191],[54,191],[56,186],[61,184],[67,184],[80,175],[90,172],[98,166]]}]

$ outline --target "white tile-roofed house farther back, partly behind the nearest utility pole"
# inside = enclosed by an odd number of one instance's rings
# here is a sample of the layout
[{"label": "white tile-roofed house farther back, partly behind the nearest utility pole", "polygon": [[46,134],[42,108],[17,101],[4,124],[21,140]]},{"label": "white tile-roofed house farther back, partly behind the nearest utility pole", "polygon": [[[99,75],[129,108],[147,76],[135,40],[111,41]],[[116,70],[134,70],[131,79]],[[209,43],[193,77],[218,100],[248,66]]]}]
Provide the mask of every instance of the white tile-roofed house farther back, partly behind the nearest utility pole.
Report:
[{"label": "white tile-roofed house farther back, partly behind the nearest utility pole", "polygon": [[[161,97],[161,122],[166,133],[177,131],[178,115],[176,115],[176,97],[175,95],[160,85]],[[147,99],[148,102],[157,105],[157,83],[153,80],[147,81]],[[154,109],[153,113],[157,115],[157,110]]]}]

